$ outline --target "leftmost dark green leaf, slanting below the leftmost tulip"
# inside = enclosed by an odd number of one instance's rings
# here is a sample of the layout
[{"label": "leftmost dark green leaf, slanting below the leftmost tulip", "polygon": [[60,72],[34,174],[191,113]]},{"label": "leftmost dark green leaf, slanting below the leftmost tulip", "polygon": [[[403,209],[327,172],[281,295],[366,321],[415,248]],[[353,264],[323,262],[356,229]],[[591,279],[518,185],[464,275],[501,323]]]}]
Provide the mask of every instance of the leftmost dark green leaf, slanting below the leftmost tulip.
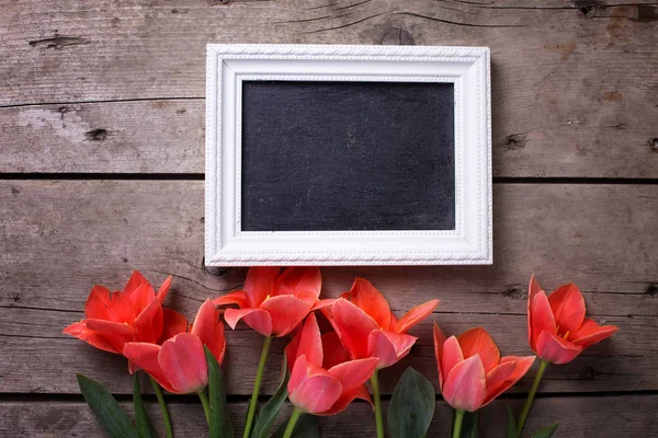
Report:
[{"label": "leftmost dark green leaf, slanting below the leftmost tulip", "polygon": [[110,391],[95,380],[82,374],[76,374],[76,377],[87,404],[111,437],[140,438],[139,433]]}]

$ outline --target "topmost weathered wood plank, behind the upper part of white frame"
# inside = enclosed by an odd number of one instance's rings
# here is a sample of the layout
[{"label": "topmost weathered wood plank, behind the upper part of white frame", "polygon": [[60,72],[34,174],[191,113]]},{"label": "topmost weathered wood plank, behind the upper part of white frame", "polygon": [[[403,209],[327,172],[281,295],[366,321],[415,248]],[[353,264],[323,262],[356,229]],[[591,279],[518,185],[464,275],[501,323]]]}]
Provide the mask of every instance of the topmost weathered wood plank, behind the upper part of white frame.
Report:
[{"label": "topmost weathered wood plank, behind the upper part of white frame", "polygon": [[[198,171],[198,108],[188,125],[186,116],[143,103],[143,125],[154,128],[141,127],[136,136],[134,123],[112,118],[116,106],[107,115],[94,115],[91,106],[64,114],[71,118],[66,128],[58,112],[77,105],[67,102],[201,99],[209,42],[402,43],[492,48],[496,175],[658,176],[658,7],[649,0],[4,3],[0,105],[58,104],[0,113],[32,125],[2,127],[9,134],[0,145],[10,158],[0,160],[3,172]],[[134,114],[135,106],[126,108]],[[154,135],[171,122],[175,135]],[[55,138],[42,137],[27,150],[39,126]],[[87,132],[103,137],[95,129],[105,129],[105,141],[88,148]],[[184,136],[172,151],[169,146]],[[149,160],[159,139],[172,157],[164,165]],[[53,155],[59,158],[39,159]],[[171,164],[181,158],[181,165]]]}]

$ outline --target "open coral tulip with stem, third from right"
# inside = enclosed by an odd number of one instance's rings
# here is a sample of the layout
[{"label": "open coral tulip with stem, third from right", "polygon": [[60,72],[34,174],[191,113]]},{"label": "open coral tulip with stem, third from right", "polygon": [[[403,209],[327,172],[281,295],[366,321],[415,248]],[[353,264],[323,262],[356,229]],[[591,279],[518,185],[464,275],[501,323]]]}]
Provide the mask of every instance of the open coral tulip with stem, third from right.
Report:
[{"label": "open coral tulip with stem, third from right", "polygon": [[[407,356],[418,339],[407,331],[429,316],[439,306],[430,300],[415,307],[398,319],[386,298],[366,279],[356,278],[349,292],[341,295],[331,307],[322,303],[321,311],[331,322],[353,359],[376,357],[377,369],[389,367]],[[377,372],[371,379],[375,399],[377,437],[384,436]]]}]

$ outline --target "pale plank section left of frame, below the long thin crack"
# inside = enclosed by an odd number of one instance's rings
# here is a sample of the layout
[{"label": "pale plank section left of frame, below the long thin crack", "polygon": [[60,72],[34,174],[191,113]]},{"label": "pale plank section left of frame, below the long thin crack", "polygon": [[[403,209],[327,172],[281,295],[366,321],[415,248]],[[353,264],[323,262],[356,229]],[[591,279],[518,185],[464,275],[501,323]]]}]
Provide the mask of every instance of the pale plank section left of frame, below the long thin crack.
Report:
[{"label": "pale plank section left of frame, below the long thin crack", "polygon": [[203,173],[203,100],[0,108],[0,172]]}]

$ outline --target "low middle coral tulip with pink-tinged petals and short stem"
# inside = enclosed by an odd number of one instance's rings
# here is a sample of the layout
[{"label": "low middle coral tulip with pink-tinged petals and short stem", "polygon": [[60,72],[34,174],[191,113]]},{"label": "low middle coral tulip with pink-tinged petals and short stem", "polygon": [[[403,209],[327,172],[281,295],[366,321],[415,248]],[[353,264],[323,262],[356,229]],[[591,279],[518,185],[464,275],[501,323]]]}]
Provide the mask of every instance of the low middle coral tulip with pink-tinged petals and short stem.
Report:
[{"label": "low middle coral tulip with pink-tinged petals and short stem", "polygon": [[336,333],[320,335],[315,314],[286,347],[292,365],[288,399],[295,406],[284,437],[290,437],[299,415],[334,415],[354,399],[370,402],[364,383],[373,376],[377,358],[349,360]]}]

